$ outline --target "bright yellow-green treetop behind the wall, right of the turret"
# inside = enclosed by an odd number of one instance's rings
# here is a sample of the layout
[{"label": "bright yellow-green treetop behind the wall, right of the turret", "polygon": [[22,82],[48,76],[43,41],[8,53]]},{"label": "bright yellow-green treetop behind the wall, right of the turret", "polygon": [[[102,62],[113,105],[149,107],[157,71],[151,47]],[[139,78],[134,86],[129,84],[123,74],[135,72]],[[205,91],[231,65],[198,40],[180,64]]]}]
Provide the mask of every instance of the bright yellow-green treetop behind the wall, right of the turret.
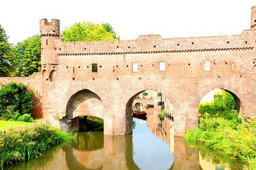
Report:
[{"label": "bright yellow-green treetop behind the wall, right of the turret", "polygon": [[94,24],[92,22],[79,22],[67,27],[61,37],[64,41],[102,41],[102,40],[119,40],[113,27],[106,24]]}]

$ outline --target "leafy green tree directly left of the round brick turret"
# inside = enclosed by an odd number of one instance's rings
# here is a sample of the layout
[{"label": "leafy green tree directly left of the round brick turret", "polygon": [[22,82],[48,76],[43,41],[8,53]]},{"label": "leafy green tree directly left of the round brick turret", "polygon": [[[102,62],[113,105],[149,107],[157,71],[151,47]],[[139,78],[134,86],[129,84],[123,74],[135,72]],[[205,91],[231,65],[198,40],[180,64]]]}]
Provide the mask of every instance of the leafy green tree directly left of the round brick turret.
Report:
[{"label": "leafy green tree directly left of the round brick turret", "polygon": [[41,40],[40,36],[31,36],[17,43],[14,48],[16,67],[15,76],[29,76],[41,70]]}]

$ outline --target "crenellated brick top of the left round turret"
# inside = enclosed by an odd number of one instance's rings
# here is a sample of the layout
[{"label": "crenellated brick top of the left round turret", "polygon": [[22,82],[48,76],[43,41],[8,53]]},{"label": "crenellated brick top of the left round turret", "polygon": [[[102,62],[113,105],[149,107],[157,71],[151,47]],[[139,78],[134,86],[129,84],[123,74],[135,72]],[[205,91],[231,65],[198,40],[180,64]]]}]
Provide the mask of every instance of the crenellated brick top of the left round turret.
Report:
[{"label": "crenellated brick top of the left round turret", "polygon": [[60,20],[52,19],[51,22],[45,18],[40,20],[40,36],[60,37]]}]

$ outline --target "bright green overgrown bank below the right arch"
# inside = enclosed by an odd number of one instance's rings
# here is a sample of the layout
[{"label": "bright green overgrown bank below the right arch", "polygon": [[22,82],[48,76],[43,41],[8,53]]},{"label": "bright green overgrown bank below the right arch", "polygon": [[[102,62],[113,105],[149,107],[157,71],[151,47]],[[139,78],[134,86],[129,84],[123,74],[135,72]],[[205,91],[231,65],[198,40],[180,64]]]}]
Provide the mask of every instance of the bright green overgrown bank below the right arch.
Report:
[{"label": "bright green overgrown bank below the right arch", "polygon": [[189,145],[204,145],[242,160],[249,169],[256,169],[256,120],[241,124],[241,120],[201,118],[198,129],[185,136]]}]

